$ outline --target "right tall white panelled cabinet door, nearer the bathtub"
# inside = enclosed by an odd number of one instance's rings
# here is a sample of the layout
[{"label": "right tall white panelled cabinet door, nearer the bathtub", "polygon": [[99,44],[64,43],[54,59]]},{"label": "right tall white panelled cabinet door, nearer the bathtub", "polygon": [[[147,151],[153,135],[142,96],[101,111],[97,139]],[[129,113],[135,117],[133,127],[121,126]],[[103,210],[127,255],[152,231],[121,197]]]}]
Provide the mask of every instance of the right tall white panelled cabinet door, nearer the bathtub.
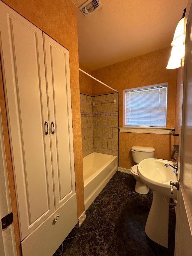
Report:
[{"label": "right tall white panelled cabinet door, nearer the bathtub", "polygon": [[[69,51],[44,34],[56,209],[75,193]],[[53,134],[53,123],[55,133]],[[51,124],[52,123],[52,124]]]}]

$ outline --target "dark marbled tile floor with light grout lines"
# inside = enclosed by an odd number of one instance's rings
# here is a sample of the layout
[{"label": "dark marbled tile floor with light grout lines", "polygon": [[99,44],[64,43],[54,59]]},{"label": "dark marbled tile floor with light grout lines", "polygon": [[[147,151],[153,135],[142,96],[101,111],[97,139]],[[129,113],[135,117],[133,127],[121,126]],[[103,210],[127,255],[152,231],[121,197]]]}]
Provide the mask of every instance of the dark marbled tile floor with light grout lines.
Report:
[{"label": "dark marbled tile floor with light grout lines", "polygon": [[170,209],[169,248],[145,234],[152,191],[135,192],[135,179],[117,171],[74,227],[54,256],[172,256],[175,244],[175,209]]}]

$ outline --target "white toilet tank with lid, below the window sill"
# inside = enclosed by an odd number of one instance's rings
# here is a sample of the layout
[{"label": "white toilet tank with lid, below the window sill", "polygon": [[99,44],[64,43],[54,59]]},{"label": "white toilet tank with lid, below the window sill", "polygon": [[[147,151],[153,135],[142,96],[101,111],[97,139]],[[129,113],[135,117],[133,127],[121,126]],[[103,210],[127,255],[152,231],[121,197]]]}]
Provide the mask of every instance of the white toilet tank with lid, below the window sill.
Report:
[{"label": "white toilet tank with lid, below the window sill", "polygon": [[131,147],[133,161],[139,164],[140,161],[146,158],[154,158],[155,149],[151,147],[133,146]]}]

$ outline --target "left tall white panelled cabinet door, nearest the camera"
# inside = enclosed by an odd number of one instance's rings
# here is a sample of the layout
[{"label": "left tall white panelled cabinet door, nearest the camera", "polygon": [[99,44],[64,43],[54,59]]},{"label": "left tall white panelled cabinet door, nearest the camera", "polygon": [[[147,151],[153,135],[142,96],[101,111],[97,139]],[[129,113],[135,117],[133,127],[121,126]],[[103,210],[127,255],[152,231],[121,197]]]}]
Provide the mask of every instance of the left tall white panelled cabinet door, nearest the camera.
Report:
[{"label": "left tall white panelled cabinet door, nearest the camera", "polygon": [[21,240],[54,212],[42,31],[0,2],[1,60]]}]

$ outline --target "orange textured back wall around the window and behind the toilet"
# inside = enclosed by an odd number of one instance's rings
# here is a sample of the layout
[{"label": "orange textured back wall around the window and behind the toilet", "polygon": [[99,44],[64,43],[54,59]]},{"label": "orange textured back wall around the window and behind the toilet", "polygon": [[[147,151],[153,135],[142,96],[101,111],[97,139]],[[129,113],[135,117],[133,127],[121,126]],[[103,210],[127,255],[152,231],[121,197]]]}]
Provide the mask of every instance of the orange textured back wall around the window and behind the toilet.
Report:
[{"label": "orange textured back wall around the window and behind the toilet", "polygon": [[[123,126],[123,90],[168,83],[167,127],[175,126],[177,71],[166,69],[171,47],[147,53],[95,71],[92,75],[119,91],[119,126]],[[111,92],[92,81],[93,95]],[[130,169],[134,164],[131,146],[155,148],[155,158],[170,159],[174,138],[162,134],[119,133],[119,167]]]}]

